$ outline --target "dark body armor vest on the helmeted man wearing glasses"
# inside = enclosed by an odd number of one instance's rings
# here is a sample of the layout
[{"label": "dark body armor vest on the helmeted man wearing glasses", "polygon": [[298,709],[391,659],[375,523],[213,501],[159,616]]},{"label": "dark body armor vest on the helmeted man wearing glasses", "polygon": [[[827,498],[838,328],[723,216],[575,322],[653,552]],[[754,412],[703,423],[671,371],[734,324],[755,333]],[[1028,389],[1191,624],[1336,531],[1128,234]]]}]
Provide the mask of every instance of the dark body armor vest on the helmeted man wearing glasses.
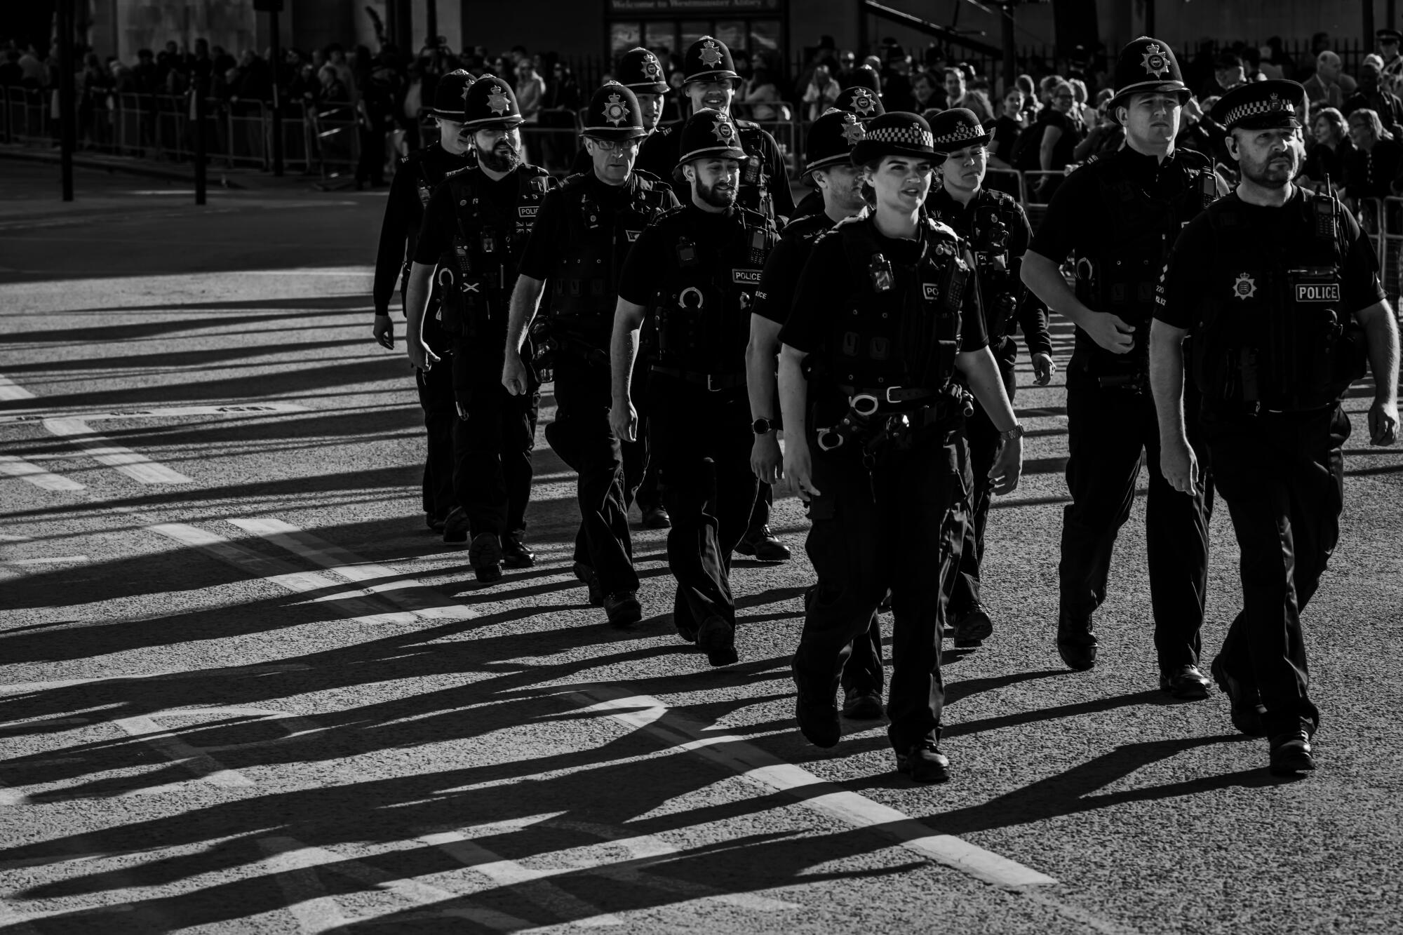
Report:
[{"label": "dark body armor vest on the helmeted man wearing glasses", "polygon": [[654,175],[634,173],[627,195],[606,209],[592,191],[591,175],[571,175],[563,185],[570,246],[551,272],[550,326],[606,348],[623,261],[671,199]]}]

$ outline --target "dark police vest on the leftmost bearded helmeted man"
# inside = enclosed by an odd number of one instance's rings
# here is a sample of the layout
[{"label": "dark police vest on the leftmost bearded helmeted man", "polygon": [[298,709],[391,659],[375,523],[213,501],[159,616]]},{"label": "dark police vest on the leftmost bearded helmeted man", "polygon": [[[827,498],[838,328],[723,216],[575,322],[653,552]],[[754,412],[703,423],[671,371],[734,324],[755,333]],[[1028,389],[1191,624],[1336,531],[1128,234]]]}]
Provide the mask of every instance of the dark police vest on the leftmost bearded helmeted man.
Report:
[{"label": "dark police vest on the leftmost bearded helmeted man", "polygon": [[505,341],[506,314],[516,263],[530,237],[546,192],[554,180],[544,168],[516,168],[516,199],[509,213],[480,194],[481,168],[471,166],[445,178],[453,198],[453,246],[439,260],[435,281],[442,291],[441,320],[450,334]]}]

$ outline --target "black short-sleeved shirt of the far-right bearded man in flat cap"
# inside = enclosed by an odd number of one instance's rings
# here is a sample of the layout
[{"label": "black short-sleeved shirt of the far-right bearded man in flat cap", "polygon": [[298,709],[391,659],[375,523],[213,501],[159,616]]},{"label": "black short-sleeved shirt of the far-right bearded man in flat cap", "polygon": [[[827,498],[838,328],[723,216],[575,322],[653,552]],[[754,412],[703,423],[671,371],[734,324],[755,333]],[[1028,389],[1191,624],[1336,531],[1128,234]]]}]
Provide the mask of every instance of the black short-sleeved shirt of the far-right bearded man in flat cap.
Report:
[{"label": "black short-sleeved shirt of the far-right bearded man in flat cap", "polygon": [[[1243,219],[1243,226],[1253,236],[1267,239],[1268,244],[1278,246],[1285,253],[1289,244],[1309,240],[1313,236],[1313,227],[1302,216],[1302,212],[1284,211],[1285,206],[1296,204],[1296,199],[1302,197],[1301,192],[1302,190],[1296,188],[1291,201],[1282,208],[1240,202],[1237,192],[1223,198],[1223,202],[1226,204],[1229,198],[1239,201],[1236,211]],[[1383,286],[1379,284],[1378,264],[1369,237],[1360,230],[1360,225],[1355,223],[1348,211],[1341,211],[1338,218],[1344,225],[1345,240],[1350,243],[1350,253],[1344,258],[1341,298],[1350,313],[1358,313],[1385,300]],[[1200,323],[1205,307],[1204,299],[1212,285],[1209,274],[1216,265],[1214,240],[1208,215],[1198,215],[1179,234],[1155,302],[1155,317],[1164,324],[1191,333]]]}]

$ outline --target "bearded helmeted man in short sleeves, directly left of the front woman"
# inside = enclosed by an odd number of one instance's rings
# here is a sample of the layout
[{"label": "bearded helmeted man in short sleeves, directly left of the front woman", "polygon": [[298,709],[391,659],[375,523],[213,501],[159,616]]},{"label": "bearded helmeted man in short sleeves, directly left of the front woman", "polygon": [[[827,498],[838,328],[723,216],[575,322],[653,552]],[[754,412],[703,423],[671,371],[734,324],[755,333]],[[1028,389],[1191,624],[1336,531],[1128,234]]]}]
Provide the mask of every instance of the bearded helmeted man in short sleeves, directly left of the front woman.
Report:
[{"label": "bearded helmeted man in short sleeves, directly left of the front woman", "polygon": [[756,494],[745,343],[776,232],[735,204],[746,152],[728,114],[697,111],[680,140],[673,181],[690,198],[643,232],[619,281],[609,421],[620,438],[636,437],[630,375],[638,327],[651,317],[651,459],[672,517],[673,621],[713,665],[725,665],[737,660],[731,552]]}]

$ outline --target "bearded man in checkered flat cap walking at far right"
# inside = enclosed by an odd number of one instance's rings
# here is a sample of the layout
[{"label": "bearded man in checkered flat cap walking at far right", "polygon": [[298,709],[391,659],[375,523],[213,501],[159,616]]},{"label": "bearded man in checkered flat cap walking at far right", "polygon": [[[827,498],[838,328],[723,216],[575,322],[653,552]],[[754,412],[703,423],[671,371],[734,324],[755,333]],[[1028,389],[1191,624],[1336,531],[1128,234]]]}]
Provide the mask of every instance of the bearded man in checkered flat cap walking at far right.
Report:
[{"label": "bearded man in checkered flat cap walking at far right", "polygon": [[[1365,362],[1369,441],[1397,435],[1397,326],[1374,248],[1334,197],[1291,181],[1305,156],[1294,107],[1302,91],[1260,81],[1214,108],[1240,181],[1179,237],[1150,337],[1164,477],[1191,490],[1211,469],[1237,535],[1243,609],[1212,674],[1233,724],[1268,737],[1278,775],[1315,768],[1320,712],[1301,611],[1340,538],[1350,435],[1340,400]],[[1198,446],[1184,428],[1186,357],[1202,399]]]}]

